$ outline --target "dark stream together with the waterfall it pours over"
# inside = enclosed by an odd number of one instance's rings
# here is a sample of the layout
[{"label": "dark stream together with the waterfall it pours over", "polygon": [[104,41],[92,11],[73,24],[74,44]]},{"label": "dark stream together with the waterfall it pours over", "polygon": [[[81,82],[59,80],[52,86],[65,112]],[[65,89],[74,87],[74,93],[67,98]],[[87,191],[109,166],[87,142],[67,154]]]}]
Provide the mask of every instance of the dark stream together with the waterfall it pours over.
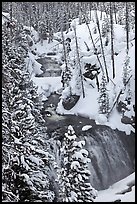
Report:
[{"label": "dark stream together with the waterfall it pours over", "polygon": [[[49,97],[49,100],[44,104],[44,109],[51,115],[45,112],[44,118],[51,140],[50,151],[54,154],[59,166],[61,162],[60,147],[64,133],[67,131],[68,125],[72,125],[78,139],[86,141],[85,149],[88,150],[91,159],[89,164],[90,181],[94,188],[97,190],[106,189],[135,171],[135,134],[133,132],[131,135],[126,135],[124,132],[112,130],[110,127],[96,125],[94,120],[81,116],[60,116],[55,111],[58,102],[59,95],[52,94]],[[83,132],[84,125],[92,125],[92,128]],[[51,175],[55,180],[54,169],[51,169]],[[56,184],[54,187],[57,190]]]}]

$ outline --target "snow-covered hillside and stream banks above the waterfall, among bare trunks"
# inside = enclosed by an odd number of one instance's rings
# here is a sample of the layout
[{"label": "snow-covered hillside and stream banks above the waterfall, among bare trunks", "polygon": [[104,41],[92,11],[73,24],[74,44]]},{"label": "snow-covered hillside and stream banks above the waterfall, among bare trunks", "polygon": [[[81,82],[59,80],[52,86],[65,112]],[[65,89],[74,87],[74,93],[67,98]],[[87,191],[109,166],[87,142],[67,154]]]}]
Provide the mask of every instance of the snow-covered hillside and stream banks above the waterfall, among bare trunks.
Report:
[{"label": "snow-covered hillside and stream banks above the waterfall, among bare trunks", "polygon": [[[98,13],[100,15],[100,13]],[[93,14],[92,14],[93,15]],[[93,15],[94,17],[94,15]],[[72,25],[74,22],[72,22]],[[93,55],[93,45],[89,36],[89,32],[87,29],[86,24],[78,25],[78,19],[75,20],[76,28],[77,28],[77,38],[79,43],[79,49],[82,53],[82,59],[81,63],[84,64],[85,62],[95,62],[98,63],[96,56]],[[100,20],[100,25],[102,24],[102,21]],[[100,41],[98,33],[94,34],[93,29],[95,27],[95,22],[91,21],[90,29],[93,34],[93,39],[96,42],[96,47],[99,48]],[[109,90],[109,98],[110,98],[110,104],[113,105],[114,99],[118,95],[119,91],[122,88],[122,72],[123,72],[123,63],[126,57],[126,33],[124,30],[124,27],[122,25],[114,24],[114,50],[118,52],[119,54],[115,56],[115,67],[116,67],[116,77],[112,78],[112,63],[111,63],[111,45],[110,42],[108,46],[105,47],[105,56],[106,56],[106,62],[109,72],[109,77],[113,82],[110,80],[110,82],[107,85],[107,89]],[[34,38],[35,33],[33,32]],[[56,33],[55,37],[60,37],[60,33]],[[71,49],[70,56],[74,55],[75,51],[75,39],[74,39],[74,31],[70,30],[67,34],[64,33],[65,38],[70,37],[71,38]],[[131,90],[132,90],[132,102],[131,105],[133,105],[135,102],[135,40],[134,39],[135,33],[133,31],[130,32],[130,43],[129,43],[129,57],[130,57],[130,67],[132,71],[132,77],[131,77]],[[37,37],[37,36],[36,36]],[[89,48],[91,49],[89,52],[87,51],[87,48],[85,46],[84,41],[88,44]],[[35,61],[35,59],[39,55],[46,55],[48,52],[56,52],[56,59],[60,60],[61,54],[62,54],[62,45],[59,44],[57,40],[53,40],[52,43],[48,43],[47,40],[43,41],[43,45],[40,44],[40,42],[36,43],[35,45],[37,56],[33,56],[30,54],[30,59],[33,63],[34,68],[32,69],[32,65],[30,64],[29,69],[31,70],[32,79],[34,83],[38,86],[39,93],[43,94],[43,98],[46,99],[51,92],[57,91],[61,89],[61,77],[43,77],[38,78],[35,77],[35,74],[41,73],[40,65]],[[103,58],[100,57],[100,61],[103,64]],[[99,79],[101,79],[101,74],[99,74]],[[94,79],[95,80],[95,79]],[[131,131],[135,131],[134,128],[130,124],[123,124],[121,123],[121,115],[117,112],[116,109],[114,109],[111,113],[111,116],[109,117],[109,120],[103,115],[99,114],[98,111],[98,97],[99,92],[96,88],[96,81],[94,80],[87,80],[84,81],[84,87],[85,87],[85,98],[82,96],[80,97],[80,100],[78,103],[71,109],[71,110],[65,110],[62,106],[62,100],[60,100],[60,103],[57,107],[57,112],[60,114],[76,114],[81,115],[84,117],[88,117],[91,119],[94,119],[97,124],[104,124],[110,126],[112,129],[119,129],[121,131],[125,131],[126,134],[130,134]],[[93,88],[90,83],[95,87]],[[115,85],[116,86],[115,86]],[[134,115],[134,111],[131,110],[131,115]]]}]

